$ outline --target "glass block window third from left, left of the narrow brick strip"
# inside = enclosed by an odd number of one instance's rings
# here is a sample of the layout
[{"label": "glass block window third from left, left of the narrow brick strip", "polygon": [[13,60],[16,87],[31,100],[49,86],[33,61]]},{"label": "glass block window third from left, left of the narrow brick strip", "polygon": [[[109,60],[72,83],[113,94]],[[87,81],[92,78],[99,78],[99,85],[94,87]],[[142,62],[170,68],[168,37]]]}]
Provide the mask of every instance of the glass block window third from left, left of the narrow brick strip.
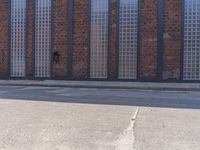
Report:
[{"label": "glass block window third from left, left of the narrow brick strip", "polygon": [[107,78],[109,0],[91,0],[90,77]]}]

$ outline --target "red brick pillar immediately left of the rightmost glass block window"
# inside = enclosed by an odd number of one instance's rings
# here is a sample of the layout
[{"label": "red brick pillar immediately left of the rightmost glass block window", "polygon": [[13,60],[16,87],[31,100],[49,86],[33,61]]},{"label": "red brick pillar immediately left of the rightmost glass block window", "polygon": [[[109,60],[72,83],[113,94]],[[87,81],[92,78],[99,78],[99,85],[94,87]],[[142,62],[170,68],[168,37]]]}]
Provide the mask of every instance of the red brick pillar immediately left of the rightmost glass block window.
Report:
[{"label": "red brick pillar immediately left of the rightmost glass block window", "polygon": [[180,79],[182,0],[165,0],[163,80]]}]

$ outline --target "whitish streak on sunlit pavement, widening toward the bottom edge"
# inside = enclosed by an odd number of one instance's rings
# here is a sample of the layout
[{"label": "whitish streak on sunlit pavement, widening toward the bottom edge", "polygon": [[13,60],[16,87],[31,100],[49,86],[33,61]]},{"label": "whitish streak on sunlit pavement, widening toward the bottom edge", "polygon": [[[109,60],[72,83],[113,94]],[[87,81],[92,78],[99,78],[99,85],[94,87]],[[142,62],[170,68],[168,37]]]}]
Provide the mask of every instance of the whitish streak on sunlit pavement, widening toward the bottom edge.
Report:
[{"label": "whitish streak on sunlit pavement, widening toward the bottom edge", "polygon": [[134,150],[134,125],[137,119],[137,115],[139,113],[139,107],[136,108],[136,111],[131,118],[130,125],[126,130],[124,130],[123,134],[119,137],[116,142],[116,150]]}]

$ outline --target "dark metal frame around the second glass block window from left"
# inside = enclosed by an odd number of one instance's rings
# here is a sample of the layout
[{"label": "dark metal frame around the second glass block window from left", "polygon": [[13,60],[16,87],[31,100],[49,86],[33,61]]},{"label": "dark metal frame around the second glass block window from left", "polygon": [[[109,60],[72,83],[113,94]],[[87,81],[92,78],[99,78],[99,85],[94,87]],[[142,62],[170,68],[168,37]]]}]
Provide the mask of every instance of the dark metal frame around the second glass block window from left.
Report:
[{"label": "dark metal frame around the second glass block window from left", "polygon": [[54,32],[54,28],[53,28],[53,16],[54,16],[54,11],[53,11],[53,8],[54,8],[54,3],[53,3],[53,0],[51,0],[51,44],[50,44],[50,77],[36,77],[35,76],[35,18],[36,18],[36,0],[34,0],[33,2],[33,38],[32,38],[32,41],[33,41],[33,58],[32,58],[32,61],[33,61],[33,66],[32,66],[32,69],[33,69],[33,78],[34,79],[52,79],[52,68],[53,68],[53,61],[52,61],[52,52],[53,52],[53,32]]}]

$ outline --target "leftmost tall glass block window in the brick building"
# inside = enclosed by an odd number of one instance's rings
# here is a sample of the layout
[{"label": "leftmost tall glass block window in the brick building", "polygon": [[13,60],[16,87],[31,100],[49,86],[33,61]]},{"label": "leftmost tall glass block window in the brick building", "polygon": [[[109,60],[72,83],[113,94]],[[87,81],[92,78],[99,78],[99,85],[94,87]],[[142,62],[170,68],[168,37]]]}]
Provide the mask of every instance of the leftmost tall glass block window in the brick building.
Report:
[{"label": "leftmost tall glass block window in the brick building", "polygon": [[11,0],[11,77],[25,77],[26,12],[26,0]]}]

